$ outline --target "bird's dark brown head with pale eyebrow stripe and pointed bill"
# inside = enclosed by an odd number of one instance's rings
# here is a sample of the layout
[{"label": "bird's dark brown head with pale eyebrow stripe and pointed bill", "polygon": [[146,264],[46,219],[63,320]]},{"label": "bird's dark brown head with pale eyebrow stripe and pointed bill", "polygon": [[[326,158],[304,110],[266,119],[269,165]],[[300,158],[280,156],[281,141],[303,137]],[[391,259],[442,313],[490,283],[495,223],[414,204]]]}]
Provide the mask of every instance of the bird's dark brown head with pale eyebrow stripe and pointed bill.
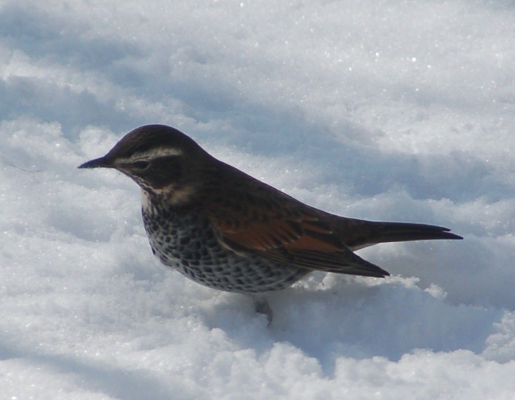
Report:
[{"label": "bird's dark brown head with pale eyebrow stripe and pointed bill", "polygon": [[127,133],[103,157],[79,168],[114,168],[151,195],[191,193],[211,159],[190,137],[165,125],[145,125]]}]

